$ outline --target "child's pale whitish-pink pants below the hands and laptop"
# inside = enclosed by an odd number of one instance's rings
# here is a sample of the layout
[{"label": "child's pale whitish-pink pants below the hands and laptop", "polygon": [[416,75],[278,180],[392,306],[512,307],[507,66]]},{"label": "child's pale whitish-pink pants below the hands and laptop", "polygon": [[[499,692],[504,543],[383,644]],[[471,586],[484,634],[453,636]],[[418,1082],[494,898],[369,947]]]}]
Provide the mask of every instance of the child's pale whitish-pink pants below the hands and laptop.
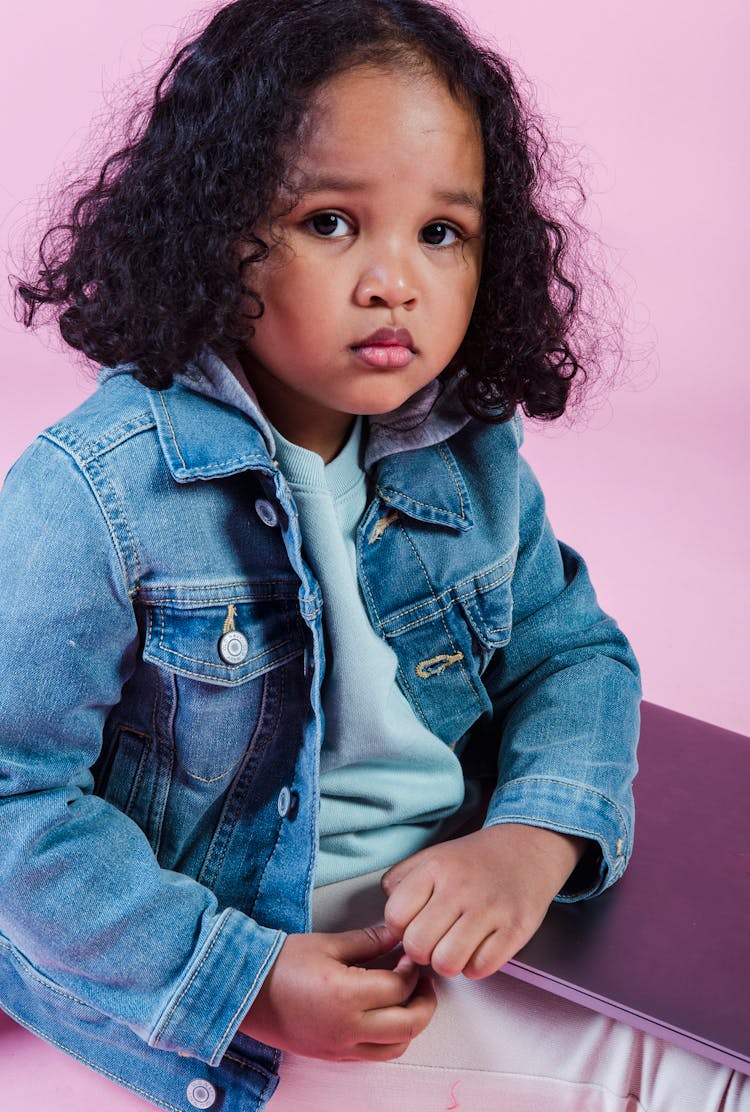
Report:
[{"label": "child's pale whitish-pink pants below the hands and laptop", "polygon": [[[379,873],[317,888],[317,931],[383,922]],[[750,1078],[496,973],[435,977],[393,1062],[285,1054],[269,1112],[750,1112]]]}]

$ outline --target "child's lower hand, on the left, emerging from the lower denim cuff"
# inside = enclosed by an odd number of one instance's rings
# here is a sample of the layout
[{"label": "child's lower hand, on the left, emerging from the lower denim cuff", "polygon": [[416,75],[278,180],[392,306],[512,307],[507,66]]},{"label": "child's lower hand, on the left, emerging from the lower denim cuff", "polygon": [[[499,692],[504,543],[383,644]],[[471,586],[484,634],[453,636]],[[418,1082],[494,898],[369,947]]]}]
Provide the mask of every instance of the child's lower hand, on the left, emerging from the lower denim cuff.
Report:
[{"label": "child's lower hand, on the left, emerging from the lower denim cuff", "polygon": [[394,970],[363,967],[396,943],[385,926],[290,934],[239,1030],[308,1058],[398,1058],[436,1001],[432,982],[406,956]]}]

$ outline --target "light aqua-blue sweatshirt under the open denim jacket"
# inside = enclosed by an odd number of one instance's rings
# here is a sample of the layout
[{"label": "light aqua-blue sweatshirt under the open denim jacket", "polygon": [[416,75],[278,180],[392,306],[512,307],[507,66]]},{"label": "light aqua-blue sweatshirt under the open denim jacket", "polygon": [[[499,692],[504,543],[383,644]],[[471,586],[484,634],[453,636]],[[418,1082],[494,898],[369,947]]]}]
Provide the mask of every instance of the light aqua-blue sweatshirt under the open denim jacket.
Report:
[{"label": "light aqua-blue sweatshirt under the open denim jacket", "polygon": [[[320,584],[326,637],[316,885],[392,865],[450,833],[464,813],[454,753],[424,726],[396,683],[396,655],[373,629],[355,566],[366,504],[365,423],[327,466],[274,429],[276,458],[299,512],[305,557]],[[473,803],[468,793],[466,804]]]}]

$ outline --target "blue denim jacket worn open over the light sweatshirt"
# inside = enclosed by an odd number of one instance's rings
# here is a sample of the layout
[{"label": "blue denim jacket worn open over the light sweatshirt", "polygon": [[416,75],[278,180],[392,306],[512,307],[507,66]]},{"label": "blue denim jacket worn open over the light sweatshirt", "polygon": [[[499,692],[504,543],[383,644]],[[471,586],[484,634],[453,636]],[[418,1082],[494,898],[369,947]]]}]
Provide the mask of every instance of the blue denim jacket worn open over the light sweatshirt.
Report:
[{"label": "blue denim jacket worn open over the light sweatshirt", "polygon": [[[373,464],[358,576],[418,717],[496,783],[486,824],[632,845],[638,668],[559,545],[519,420]],[[260,1109],[238,1033],[309,930],[320,590],[258,423],[109,377],[0,498],[0,1006],[169,1110]]]}]

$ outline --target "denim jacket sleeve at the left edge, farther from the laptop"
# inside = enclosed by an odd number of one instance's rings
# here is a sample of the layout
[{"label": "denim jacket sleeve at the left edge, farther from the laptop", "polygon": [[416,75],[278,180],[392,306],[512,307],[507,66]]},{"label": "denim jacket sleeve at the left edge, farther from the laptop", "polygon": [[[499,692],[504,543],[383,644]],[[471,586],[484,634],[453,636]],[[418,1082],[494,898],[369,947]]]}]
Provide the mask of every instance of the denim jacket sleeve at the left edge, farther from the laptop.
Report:
[{"label": "denim jacket sleeve at the left edge, farther from the laptop", "polygon": [[85,475],[38,440],[0,496],[0,951],[62,1002],[216,1064],[284,934],[160,868],[92,792],[138,651],[124,567]]}]

